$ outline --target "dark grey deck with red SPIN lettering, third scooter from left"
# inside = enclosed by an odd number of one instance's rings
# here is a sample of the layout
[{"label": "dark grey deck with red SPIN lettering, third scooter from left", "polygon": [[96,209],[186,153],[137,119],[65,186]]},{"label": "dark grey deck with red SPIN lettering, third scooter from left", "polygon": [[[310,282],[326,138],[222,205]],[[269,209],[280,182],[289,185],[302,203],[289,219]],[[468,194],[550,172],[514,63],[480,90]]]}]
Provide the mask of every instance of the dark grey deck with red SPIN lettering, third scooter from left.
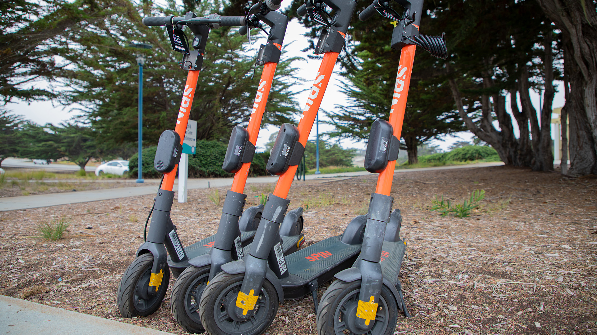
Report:
[{"label": "dark grey deck with red SPIN lettering, third scooter from left", "polygon": [[350,268],[361,252],[361,244],[346,244],[334,236],[312,244],[286,257],[288,276],[281,278],[285,299],[303,297],[334,277],[337,272]]}]

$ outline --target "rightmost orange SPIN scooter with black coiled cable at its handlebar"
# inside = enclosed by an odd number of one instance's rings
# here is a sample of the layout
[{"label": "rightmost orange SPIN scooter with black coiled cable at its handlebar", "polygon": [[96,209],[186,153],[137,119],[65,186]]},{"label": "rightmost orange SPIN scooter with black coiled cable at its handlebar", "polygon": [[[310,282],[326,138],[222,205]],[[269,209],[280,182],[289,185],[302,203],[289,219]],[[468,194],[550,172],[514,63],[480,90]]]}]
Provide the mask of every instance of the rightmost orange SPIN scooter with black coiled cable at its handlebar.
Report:
[{"label": "rightmost orange SPIN scooter with black coiled cable at its handlebar", "polygon": [[398,309],[410,317],[402,297],[400,266],[407,243],[400,238],[400,210],[392,211],[390,196],[402,122],[407,106],[408,87],[416,47],[434,57],[446,59],[444,35],[428,36],[418,32],[423,0],[395,0],[404,7],[399,15],[390,2],[374,0],[359,19],[365,21],[376,13],[393,21],[392,49],[401,51],[389,121],[376,120],[371,125],[365,169],[379,173],[375,193],[371,194],[367,228],[359,258],[352,268],[338,272],[325,290],[317,313],[319,335],[371,334],[391,335],[398,320]]}]

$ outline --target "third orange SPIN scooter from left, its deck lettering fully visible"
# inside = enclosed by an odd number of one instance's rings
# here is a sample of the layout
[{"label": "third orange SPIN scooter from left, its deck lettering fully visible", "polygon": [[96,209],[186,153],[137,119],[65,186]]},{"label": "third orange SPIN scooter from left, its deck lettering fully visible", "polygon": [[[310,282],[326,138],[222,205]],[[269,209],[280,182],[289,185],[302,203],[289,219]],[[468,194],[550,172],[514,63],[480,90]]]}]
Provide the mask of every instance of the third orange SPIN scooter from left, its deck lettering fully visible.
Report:
[{"label": "third orange SPIN scooter from left, its deck lettering fully visible", "polygon": [[[324,12],[327,7],[333,15]],[[278,303],[284,299],[311,293],[316,303],[319,285],[352,266],[361,250],[367,221],[364,215],[353,219],[342,235],[287,256],[279,237],[290,204],[286,197],[355,8],[354,0],[307,0],[297,10],[299,15],[309,14],[325,26],[314,51],[323,54],[323,60],[298,127],[282,125],[273,145],[266,168],[279,179],[267,198],[250,252],[243,260],[222,265],[222,272],[208,283],[201,296],[199,315],[211,335],[261,334],[272,324]]]}]

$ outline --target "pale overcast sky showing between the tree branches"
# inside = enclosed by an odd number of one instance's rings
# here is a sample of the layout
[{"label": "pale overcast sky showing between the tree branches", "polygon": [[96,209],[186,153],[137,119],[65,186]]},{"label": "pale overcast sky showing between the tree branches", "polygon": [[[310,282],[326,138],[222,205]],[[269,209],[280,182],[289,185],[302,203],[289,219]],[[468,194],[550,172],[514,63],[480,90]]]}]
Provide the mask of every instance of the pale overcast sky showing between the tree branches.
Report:
[{"label": "pale overcast sky showing between the tree branches", "polygon": [[[307,29],[299,24],[297,20],[292,20],[288,25],[287,33],[284,38],[285,45],[284,51],[287,51],[286,57],[294,57],[298,55],[299,57],[303,57],[304,60],[296,61],[294,64],[298,70],[298,76],[301,77],[303,80],[302,82],[297,82],[297,85],[294,86],[296,91],[302,91],[300,94],[296,95],[297,101],[302,108],[307,101],[307,96],[309,92],[306,89],[309,89],[312,85],[313,80],[315,79],[315,75],[317,70],[319,69],[319,64],[321,60],[310,60],[307,58],[307,55],[310,52],[302,52],[301,50],[304,49],[309,39],[304,37],[304,33],[307,32]],[[259,39],[253,39],[253,50],[249,51],[252,54],[256,54],[257,50],[259,49],[259,45],[261,43],[265,43],[266,38],[264,37],[264,33],[260,33],[257,37]],[[173,61],[179,61],[174,60]],[[319,119],[326,120],[327,118],[324,116],[324,113],[321,113],[321,110],[334,110],[336,104],[344,104],[346,103],[346,95],[339,92],[340,82],[338,80],[337,72],[339,67],[336,66],[333,75],[331,76],[330,84],[328,85],[327,91],[325,92],[324,99],[321,104]],[[182,70],[181,70],[182,71]],[[389,69],[389,71],[395,71],[395,69]],[[258,74],[259,76],[259,74]],[[255,80],[259,80],[256,79]],[[40,82],[37,83],[36,86],[45,86],[47,83]],[[182,89],[182,88],[181,88]],[[201,98],[201,94],[196,95],[196,99]],[[539,106],[539,96],[531,91],[531,98],[533,100],[533,104],[536,108]],[[391,103],[391,97],[388,97],[387,103]],[[564,106],[564,93],[558,92],[556,93],[555,100],[553,101],[553,108],[562,107]],[[60,123],[69,120],[71,117],[75,116],[76,111],[72,111],[73,106],[61,106],[60,104],[52,103],[51,101],[39,101],[33,103],[26,103],[23,101],[14,101],[14,103],[7,104],[6,106],[8,110],[12,110],[15,114],[20,114],[26,117],[27,119],[33,120],[39,124],[45,123]],[[510,113],[510,104],[506,102],[506,109]],[[298,117],[297,117],[298,119]],[[174,125],[173,125],[174,127]],[[315,125],[310,134],[310,139],[315,139]],[[516,128],[516,126],[515,126]],[[333,126],[326,125],[325,123],[320,123],[319,125],[319,133],[326,131],[331,131]],[[274,126],[267,126],[264,129],[261,129],[259,133],[259,138],[257,139],[257,150],[263,150],[264,144],[269,139],[270,135],[273,132],[277,132],[278,128]],[[472,139],[472,134],[470,132],[460,132],[455,134],[456,137],[453,136],[446,136],[444,137],[444,141],[432,141],[433,145],[439,145],[442,150],[447,150],[448,146],[455,141],[470,141]],[[517,134],[518,135],[518,134]],[[341,145],[345,148],[365,148],[364,142],[355,142],[350,141],[348,139],[341,140]]]}]

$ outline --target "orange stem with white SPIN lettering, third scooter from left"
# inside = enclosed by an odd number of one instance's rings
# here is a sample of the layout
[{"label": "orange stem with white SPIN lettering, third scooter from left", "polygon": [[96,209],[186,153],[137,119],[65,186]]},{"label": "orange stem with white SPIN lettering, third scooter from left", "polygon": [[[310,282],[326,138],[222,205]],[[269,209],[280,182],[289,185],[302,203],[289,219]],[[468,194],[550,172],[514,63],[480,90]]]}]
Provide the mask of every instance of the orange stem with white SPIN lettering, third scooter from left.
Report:
[{"label": "orange stem with white SPIN lettering, third scooter from left", "polygon": [[[341,32],[338,31],[338,33]],[[344,36],[343,33],[341,34]],[[319,111],[321,101],[324,98],[325,89],[328,87],[330,76],[334,70],[334,64],[336,64],[337,59],[338,52],[326,52],[324,54],[324,59],[321,61],[321,66],[319,66],[315,82],[313,82],[313,87],[309,92],[309,99],[307,99],[307,104],[303,108],[303,114],[298,122],[298,142],[300,142],[303,147],[307,144],[309,133],[315,122],[315,117]],[[281,198],[286,198],[288,196],[288,191],[290,191],[290,185],[293,184],[297,168],[298,165],[291,165],[288,167],[288,170],[279,176],[276,188],[273,190],[274,196]]]}]

